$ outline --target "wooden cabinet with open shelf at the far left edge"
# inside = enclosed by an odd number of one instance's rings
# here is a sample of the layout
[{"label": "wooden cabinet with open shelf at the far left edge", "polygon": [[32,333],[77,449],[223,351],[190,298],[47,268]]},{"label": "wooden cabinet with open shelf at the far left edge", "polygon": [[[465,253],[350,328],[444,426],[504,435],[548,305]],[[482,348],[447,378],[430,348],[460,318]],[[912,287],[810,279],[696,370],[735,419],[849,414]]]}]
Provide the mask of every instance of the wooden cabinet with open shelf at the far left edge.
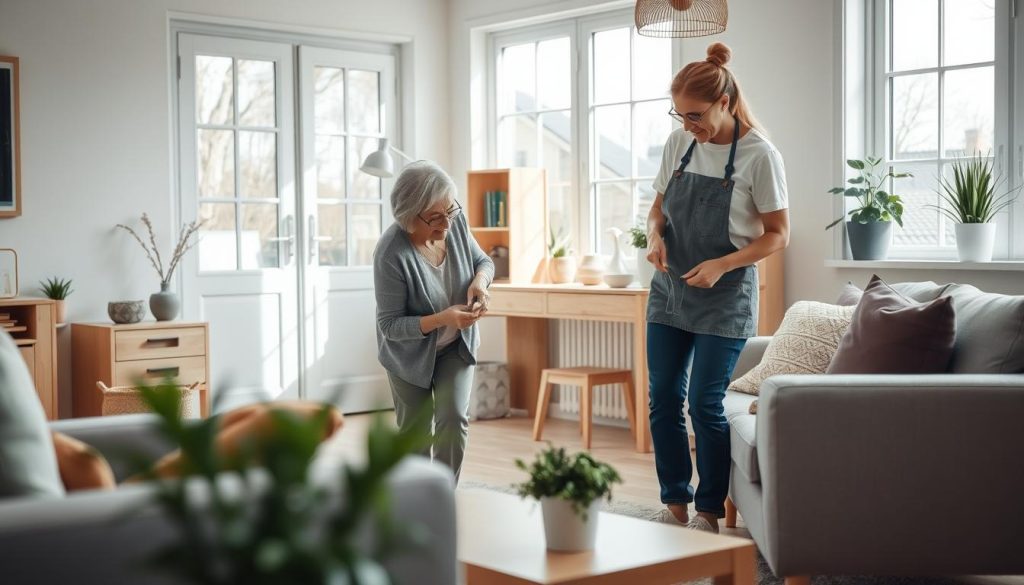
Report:
[{"label": "wooden cabinet with open shelf at the far left edge", "polygon": [[14,338],[46,418],[56,420],[57,410],[57,317],[56,303],[48,298],[0,299],[0,321]]}]

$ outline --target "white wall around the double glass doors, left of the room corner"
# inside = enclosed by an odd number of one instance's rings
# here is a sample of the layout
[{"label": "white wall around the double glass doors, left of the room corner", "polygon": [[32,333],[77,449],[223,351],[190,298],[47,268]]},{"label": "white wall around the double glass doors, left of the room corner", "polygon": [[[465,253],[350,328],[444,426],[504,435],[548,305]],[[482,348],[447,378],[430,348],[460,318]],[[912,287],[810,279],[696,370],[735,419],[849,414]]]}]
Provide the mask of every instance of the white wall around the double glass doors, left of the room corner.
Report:
[{"label": "white wall around the double glass doors, left of the room corner", "polygon": [[[402,145],[449,161],[444,0],[0,0],[0,54],[22,66],[24,190],[22,216],[0,220],[0,247],[18,252],[23,294],[45,277],[75,281],[71,321],[105,320],[108,301],[159,289],[114,225],[146,211],[166,243],[174,222],[168,11],[412,39],[403,99],[418,115]],[[63,416],[70,337],[60,331]]]}]

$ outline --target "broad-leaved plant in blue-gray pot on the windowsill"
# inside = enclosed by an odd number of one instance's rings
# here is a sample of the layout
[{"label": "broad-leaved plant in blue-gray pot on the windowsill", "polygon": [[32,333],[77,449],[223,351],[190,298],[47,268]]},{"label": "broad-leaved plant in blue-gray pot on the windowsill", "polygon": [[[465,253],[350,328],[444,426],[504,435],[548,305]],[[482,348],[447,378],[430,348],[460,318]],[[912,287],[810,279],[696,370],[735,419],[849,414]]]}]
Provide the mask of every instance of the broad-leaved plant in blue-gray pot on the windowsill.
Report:
[{"label": "broad-leaved plant in blue-gray pot on the windowsill", "polygon": [[[898,195],[887,193],[883,184],[889,179],[913,176],[898,173],[891,167],[876,171],[882,159],[867,157],[865,160],[848,160],[846,164],[858,171],[858,175],[847,180],[849,186],[837,186],[828,191],[834,195],[852,197],[860,204],[846,215],[846,233],[850,237],[850,251],[854,260],[884,260],[889,256],[892,242],[892,222],[903,226],[903,201]],[[843,221],[840,217],[825,226],[830,229]]]}]

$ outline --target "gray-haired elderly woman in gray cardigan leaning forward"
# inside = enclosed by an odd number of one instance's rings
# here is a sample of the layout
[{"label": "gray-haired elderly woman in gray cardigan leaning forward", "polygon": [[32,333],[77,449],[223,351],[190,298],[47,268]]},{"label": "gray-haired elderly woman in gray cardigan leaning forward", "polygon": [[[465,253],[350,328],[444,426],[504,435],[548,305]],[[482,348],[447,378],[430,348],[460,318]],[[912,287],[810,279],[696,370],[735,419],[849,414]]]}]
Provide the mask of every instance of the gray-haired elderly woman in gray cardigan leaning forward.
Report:
[{"label": "gray-haired elderly woman in gray cardigan leaning forward", "polygon": [[487,311],[494,263],[469,233],[455,182],[437,165],[406,167],[391,211],[394,223],[374,251],[378,356],[398,426],[427,433],[432,418],[433,457],[458,482],[480,344],[476,322]]}]

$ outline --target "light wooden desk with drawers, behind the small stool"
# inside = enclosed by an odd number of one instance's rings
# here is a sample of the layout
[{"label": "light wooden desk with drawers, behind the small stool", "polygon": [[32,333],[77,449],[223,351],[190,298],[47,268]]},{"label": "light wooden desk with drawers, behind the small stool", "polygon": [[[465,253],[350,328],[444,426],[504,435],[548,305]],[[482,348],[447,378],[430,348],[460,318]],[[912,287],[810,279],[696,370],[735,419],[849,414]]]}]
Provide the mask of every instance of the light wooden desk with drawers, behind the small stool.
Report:
[{"label": "light wooden desk with drawers, behind the small stool", "polygon": [[[548,320],[582,319],[633,324],[633,388],[636,449],[649,453],[647,416],[647,295],[645,288],[604,285],[504,285],[490,287],[487,314],[507,317],[512,407],[530,416],[537,408],[541,371],[548,367]],[[600,364],[591,364],[599,366]]]}]

